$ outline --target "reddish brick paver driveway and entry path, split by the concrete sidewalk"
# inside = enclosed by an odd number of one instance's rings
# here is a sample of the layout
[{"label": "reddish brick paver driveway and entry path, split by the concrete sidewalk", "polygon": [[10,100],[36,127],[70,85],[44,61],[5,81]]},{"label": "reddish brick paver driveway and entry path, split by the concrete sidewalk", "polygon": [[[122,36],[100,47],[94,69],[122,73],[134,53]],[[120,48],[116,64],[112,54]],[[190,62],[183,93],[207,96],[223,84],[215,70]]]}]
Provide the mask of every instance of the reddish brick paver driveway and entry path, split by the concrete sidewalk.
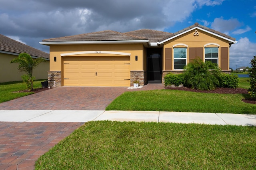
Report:
[{"label": "reddish brick paver driveway and entry path, split by the concrete sidewalk", "polygon": [[[105,110],[125,91],[163,89],[125,87],[58,87],[0,103],[0,110]],[[0,170],[32,170],[40,155],[84,123],[0,122]]]}]

